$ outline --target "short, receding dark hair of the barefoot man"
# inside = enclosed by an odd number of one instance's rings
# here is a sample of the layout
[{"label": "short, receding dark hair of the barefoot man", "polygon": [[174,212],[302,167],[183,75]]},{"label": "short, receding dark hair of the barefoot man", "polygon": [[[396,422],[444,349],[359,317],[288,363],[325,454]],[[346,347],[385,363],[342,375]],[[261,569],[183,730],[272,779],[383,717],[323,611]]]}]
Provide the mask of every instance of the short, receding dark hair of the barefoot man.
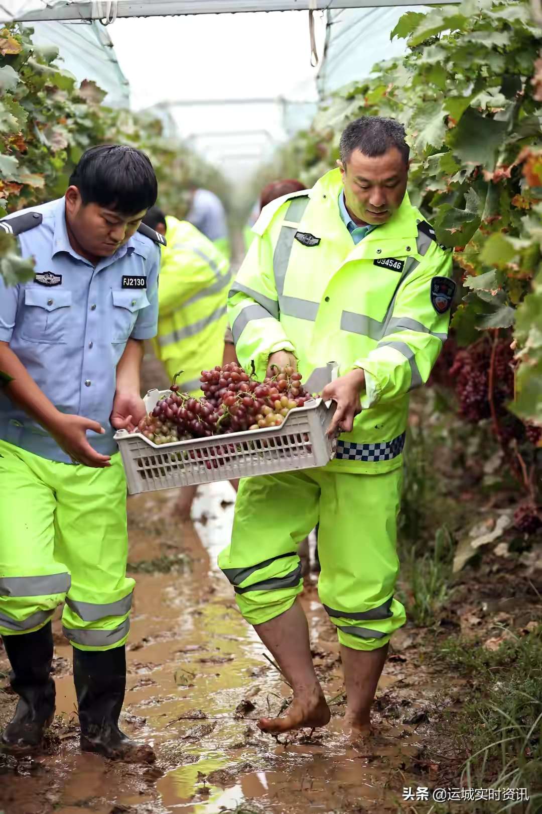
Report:
[{"label": "short, receding dark hair of the barefoot man", "polygon": [[409,163],[410,147],[405,142],[405,128],[395,119],[382,116],[362,116],[351,121],[340,137],[340,160],[346,168],[354,150],[369,158],[384,155],[390,147],[397,147],[405,164]]}]

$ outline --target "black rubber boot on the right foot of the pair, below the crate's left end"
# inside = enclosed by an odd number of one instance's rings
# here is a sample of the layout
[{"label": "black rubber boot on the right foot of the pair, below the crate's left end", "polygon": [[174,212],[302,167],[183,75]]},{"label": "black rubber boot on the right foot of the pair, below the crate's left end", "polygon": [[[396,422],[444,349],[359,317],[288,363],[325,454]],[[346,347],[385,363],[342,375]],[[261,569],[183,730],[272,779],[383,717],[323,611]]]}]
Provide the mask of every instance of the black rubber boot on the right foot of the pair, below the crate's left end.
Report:
[{"label": "black rubber boot on the right foot of the pair, below the crate's left end", "polygon": [[124,646],[103,651],[74,647],[73,680],[79,705],[81,749],[127,763],[154,763],[156,756],[150,746],[130,740],[119,729],[126,689]]}]

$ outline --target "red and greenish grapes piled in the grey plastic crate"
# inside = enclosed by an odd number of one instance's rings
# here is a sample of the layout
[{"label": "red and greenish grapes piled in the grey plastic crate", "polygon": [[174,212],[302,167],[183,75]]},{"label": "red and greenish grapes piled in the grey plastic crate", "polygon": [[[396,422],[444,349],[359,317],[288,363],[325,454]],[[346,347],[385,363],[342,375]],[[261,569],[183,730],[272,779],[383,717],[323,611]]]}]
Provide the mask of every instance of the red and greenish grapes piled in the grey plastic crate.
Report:
[{"label": "red and greenish grapes piled in the grey plastic crate", "polygon": [[263,382],[233,363],[203,370],[201,399],[179,392],[175,379],[171,394],[163,396],[137,426],[154,444],[279,427],[291,409],[310,399],[301,374],[289,365],[274,367]]}]

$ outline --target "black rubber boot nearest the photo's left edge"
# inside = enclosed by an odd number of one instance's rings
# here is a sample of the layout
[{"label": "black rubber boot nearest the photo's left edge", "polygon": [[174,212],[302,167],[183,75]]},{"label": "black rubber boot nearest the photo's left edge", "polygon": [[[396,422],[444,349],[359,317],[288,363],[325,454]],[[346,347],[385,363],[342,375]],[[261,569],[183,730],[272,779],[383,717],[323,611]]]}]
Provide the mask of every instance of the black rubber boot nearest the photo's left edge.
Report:
[{"label": "black rubber boot nearest the photo's left edge", "polygon": [[11,689],[19,696],[15,716],[0,736],[0,750],[30,755],[40,749],[53,721],[53,633],[50,622],[32,633],[2,637],[11,663]]}]

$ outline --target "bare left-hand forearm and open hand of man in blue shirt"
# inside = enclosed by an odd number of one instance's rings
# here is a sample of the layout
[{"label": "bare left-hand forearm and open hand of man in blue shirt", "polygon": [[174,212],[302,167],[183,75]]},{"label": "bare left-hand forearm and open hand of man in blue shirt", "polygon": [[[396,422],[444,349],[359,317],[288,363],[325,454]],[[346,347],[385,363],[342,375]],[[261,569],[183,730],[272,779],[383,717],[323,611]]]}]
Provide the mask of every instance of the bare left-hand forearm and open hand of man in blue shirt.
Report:
[{"label": "bare left-hand forearm and open hand of man in blue shirt", "polygon": [[4,388],[7,396],[41,424],[73,461],[98,468],[110,466],[110,456],[97,453],[86,437],[87,430],[103,434],[103,427],[90,418],[56,409],[7,342],[0,342],[0,370],[12,379]]}]

